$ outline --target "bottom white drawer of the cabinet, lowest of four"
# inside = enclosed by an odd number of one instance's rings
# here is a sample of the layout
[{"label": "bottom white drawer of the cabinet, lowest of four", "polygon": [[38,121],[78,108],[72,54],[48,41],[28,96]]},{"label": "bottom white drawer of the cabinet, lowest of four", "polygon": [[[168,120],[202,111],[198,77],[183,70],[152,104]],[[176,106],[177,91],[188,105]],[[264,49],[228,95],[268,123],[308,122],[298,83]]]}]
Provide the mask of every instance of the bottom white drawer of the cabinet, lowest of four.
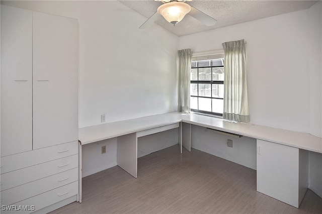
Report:
[{"label": "bottom white drawer of the cabinet, lowest of four", "polygon": [[[78,194],[78,182],[72,182],[67,185],[58,187],[56,189],[44,192],[34,197],[22,200],[12,205],[2,205],[1,213],[31,213],[33,211],[42,209],[51,204],[57,203],[68,197]],[[16,210],[17,208],[25,208],[28,210]],[[12,209],[12,210],[9,210]]]}]

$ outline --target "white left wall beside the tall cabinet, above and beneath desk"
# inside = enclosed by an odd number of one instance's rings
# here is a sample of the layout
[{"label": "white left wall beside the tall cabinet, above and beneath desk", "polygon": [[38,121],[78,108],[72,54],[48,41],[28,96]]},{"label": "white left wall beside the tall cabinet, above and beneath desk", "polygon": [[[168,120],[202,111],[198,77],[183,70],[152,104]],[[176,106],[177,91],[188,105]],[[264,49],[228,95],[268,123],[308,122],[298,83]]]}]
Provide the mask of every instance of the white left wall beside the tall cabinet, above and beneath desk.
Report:
[{"label": "white left wall beside the tall cabinet, above and beneath desk", "polygon": [[[79,24],[79,127],[177,111],[178,37],[117,1],[2,1],[75,18]],[[144,139],[140,156],[179,142],[178,133]],[[162,138],[162,139],[157,139]],[[155,145],[154,142],[159,142]],[[101,154],[105,145],[107,152]],[[116,165],[116,140],[83,147],[83,176]]]}]

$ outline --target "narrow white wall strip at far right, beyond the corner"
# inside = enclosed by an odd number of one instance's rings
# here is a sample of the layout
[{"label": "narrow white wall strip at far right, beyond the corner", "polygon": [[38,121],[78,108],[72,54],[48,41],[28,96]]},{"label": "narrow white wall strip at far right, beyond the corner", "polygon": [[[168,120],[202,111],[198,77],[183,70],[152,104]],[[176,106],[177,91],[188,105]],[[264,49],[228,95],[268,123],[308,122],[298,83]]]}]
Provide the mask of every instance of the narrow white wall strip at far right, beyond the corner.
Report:
[{"label": "narrow white wall strip at far right, beyond the corner", "polygon": [[[308,11],[310,34],[310,133],[321,137],[322,2]],[[319,72],[318,72],[319,71]],[[322,143],[321,143],[322,144]],[[322,145],[321,145],[322,146]],[[308,187],[322,197],[322,154],[308,154]]]}]

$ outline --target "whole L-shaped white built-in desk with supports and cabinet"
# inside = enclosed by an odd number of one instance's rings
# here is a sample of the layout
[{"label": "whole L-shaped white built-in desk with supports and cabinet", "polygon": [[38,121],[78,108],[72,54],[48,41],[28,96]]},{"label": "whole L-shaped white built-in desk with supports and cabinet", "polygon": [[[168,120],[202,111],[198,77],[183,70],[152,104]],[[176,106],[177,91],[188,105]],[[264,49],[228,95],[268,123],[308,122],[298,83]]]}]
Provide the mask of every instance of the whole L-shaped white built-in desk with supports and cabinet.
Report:
[{"label": "whole L-shaped white built-in desk with supports and cabinet", "polygon": [[117,137],[117,164],[136,178],[137,138],[179,127],[181,152],[182,146],[190,151],[191,125],[257,139],[257,191],[299,207],[308,185],[308,151],[322,153],[321,138],[310,134],[173,112],[85,127],[78,135],[81,145]]}]

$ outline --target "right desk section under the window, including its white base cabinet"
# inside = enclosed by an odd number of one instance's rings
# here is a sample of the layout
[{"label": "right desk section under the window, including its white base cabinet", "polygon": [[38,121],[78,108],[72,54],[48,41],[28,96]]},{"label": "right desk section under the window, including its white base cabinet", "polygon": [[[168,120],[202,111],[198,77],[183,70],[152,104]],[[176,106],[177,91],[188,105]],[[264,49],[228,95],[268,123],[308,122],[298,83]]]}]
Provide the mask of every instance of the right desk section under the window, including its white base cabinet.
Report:
[{"label": "right desk section under the window, including its white base cabinet", "polygon": [[257,139],[257,191],[299,207],[308,187],[308,151],[322,153],[321,138],[306,133],[186,114],[182,115],[182,143],[189,151],[191,125]]}]

